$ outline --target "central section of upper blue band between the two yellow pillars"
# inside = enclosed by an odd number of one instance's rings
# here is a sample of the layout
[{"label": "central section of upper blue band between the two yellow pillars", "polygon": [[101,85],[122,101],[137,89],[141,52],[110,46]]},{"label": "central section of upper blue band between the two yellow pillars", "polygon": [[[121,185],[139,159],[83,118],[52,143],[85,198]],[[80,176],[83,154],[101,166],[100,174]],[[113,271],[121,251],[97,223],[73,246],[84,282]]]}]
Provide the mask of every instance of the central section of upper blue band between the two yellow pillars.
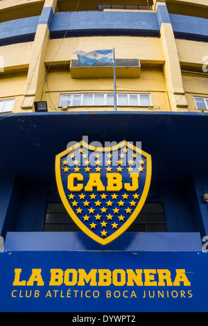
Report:
[{"label": "central section of upper blue band between the two yellow pillars", "polygon": [[62,12],[55,13],[51,37],[68,35],[153,35],[159,36],[154,12]]}]

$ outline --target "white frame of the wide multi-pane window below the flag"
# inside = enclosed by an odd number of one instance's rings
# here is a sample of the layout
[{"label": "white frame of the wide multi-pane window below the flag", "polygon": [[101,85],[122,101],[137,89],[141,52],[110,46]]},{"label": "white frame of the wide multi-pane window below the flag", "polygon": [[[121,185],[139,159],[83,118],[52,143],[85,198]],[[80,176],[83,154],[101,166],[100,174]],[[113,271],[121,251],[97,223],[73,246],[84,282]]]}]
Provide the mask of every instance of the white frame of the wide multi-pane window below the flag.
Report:
[{"label": "white frame of the wide multi-pane window below the flag", "polygon": [[[92,95],[92,104],[83,104],[83,101],[84,101],[84,96],[85,95]],[[103,103],[101,103],[100,105],[97,105],[97,104],[94,104],[94,100],[95,100],[95,95],[103,95]],[[107,105],[107,96],[108,95],[114,95],[113,93],[76,93],[76,94],[60,94],[60,103],[59,103],[59,107],[60,108],[70,108],[70,107],[73,107],[73,106],[76,106],[76,107],[80,107],[80,106],[112,106],[112,105]],[[117,105],[118,106],[135,106],[135,107],[151,107],[153,106],[152,105],[152,101],[151,101],[151,96],[150,94],[146,94],[146,93],[139,93],[139,94],[134,94],[134,93],[130,93],[130,94],[127,94],[127,93],[119,93],[119,94],[116,94],[117,95]],[[119,96],[120,95],[127,95],[127,101],[128,101],[128,104],[127,105],[121,105],[121,104],[118,104],[119,103]],[[142,95],[145,95],[145,96],[148,96],[149,98],[149,104],[148,105],[141,105],[141,96]],[[69,103],[67,103],[67,105],[62,105],[62,101],[63,101],[63,97],[64,96],[71,96],[71,100],[69,101]],[[73,105],[73,97],[75,96],[80,96],[80,105]],[[132,105],[130,104],[130,96],[137,96],[137,105]]]}]

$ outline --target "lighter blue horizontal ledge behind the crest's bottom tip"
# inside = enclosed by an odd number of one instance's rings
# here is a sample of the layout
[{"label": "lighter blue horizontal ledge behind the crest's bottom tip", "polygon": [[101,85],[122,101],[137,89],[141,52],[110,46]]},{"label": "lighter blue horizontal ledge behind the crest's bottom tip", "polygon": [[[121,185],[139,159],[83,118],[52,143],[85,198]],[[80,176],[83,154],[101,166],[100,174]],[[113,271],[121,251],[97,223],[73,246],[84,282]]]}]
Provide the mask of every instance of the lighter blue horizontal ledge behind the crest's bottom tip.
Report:
[{"label": "lighter blue horizontal ledge behind the crest's bottom tip", "polygon": [[102,246],[83,232],[8,232],[7,251],[202,251],[198,232],[125,232]]}]

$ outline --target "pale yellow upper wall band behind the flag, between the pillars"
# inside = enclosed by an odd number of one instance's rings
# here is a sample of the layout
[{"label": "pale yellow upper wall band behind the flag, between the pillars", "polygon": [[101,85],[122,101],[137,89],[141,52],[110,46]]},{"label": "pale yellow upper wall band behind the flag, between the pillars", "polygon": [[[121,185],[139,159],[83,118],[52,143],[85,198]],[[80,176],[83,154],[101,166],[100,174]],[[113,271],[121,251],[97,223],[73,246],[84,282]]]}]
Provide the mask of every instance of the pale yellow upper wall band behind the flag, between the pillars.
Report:
[{"label": "pale yellow upper wall band behind the flag, between the pillars", "polygon": [[[45,62],[68,62],[76,60],[76,50],[92,51],[102,46],[102,49],[115,47],[116,58],[139,59],[141,63],[164,63],[162,46],[157,37],[72,37],[64,40],[49,40]],[[59,47],[59,51],[57,49]]]}]

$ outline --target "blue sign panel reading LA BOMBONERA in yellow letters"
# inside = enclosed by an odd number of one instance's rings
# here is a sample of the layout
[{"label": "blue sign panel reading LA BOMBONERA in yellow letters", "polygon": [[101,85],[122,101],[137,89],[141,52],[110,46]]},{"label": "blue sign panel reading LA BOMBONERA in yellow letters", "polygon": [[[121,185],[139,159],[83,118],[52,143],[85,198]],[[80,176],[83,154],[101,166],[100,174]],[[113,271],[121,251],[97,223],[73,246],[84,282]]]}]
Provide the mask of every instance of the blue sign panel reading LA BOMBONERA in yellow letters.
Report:
[{"label": "blue sign panel reading LA BOMBONERA in yellow letters", "polygon": [[0,311],[207,311],[204,252],[2,252]]}]

